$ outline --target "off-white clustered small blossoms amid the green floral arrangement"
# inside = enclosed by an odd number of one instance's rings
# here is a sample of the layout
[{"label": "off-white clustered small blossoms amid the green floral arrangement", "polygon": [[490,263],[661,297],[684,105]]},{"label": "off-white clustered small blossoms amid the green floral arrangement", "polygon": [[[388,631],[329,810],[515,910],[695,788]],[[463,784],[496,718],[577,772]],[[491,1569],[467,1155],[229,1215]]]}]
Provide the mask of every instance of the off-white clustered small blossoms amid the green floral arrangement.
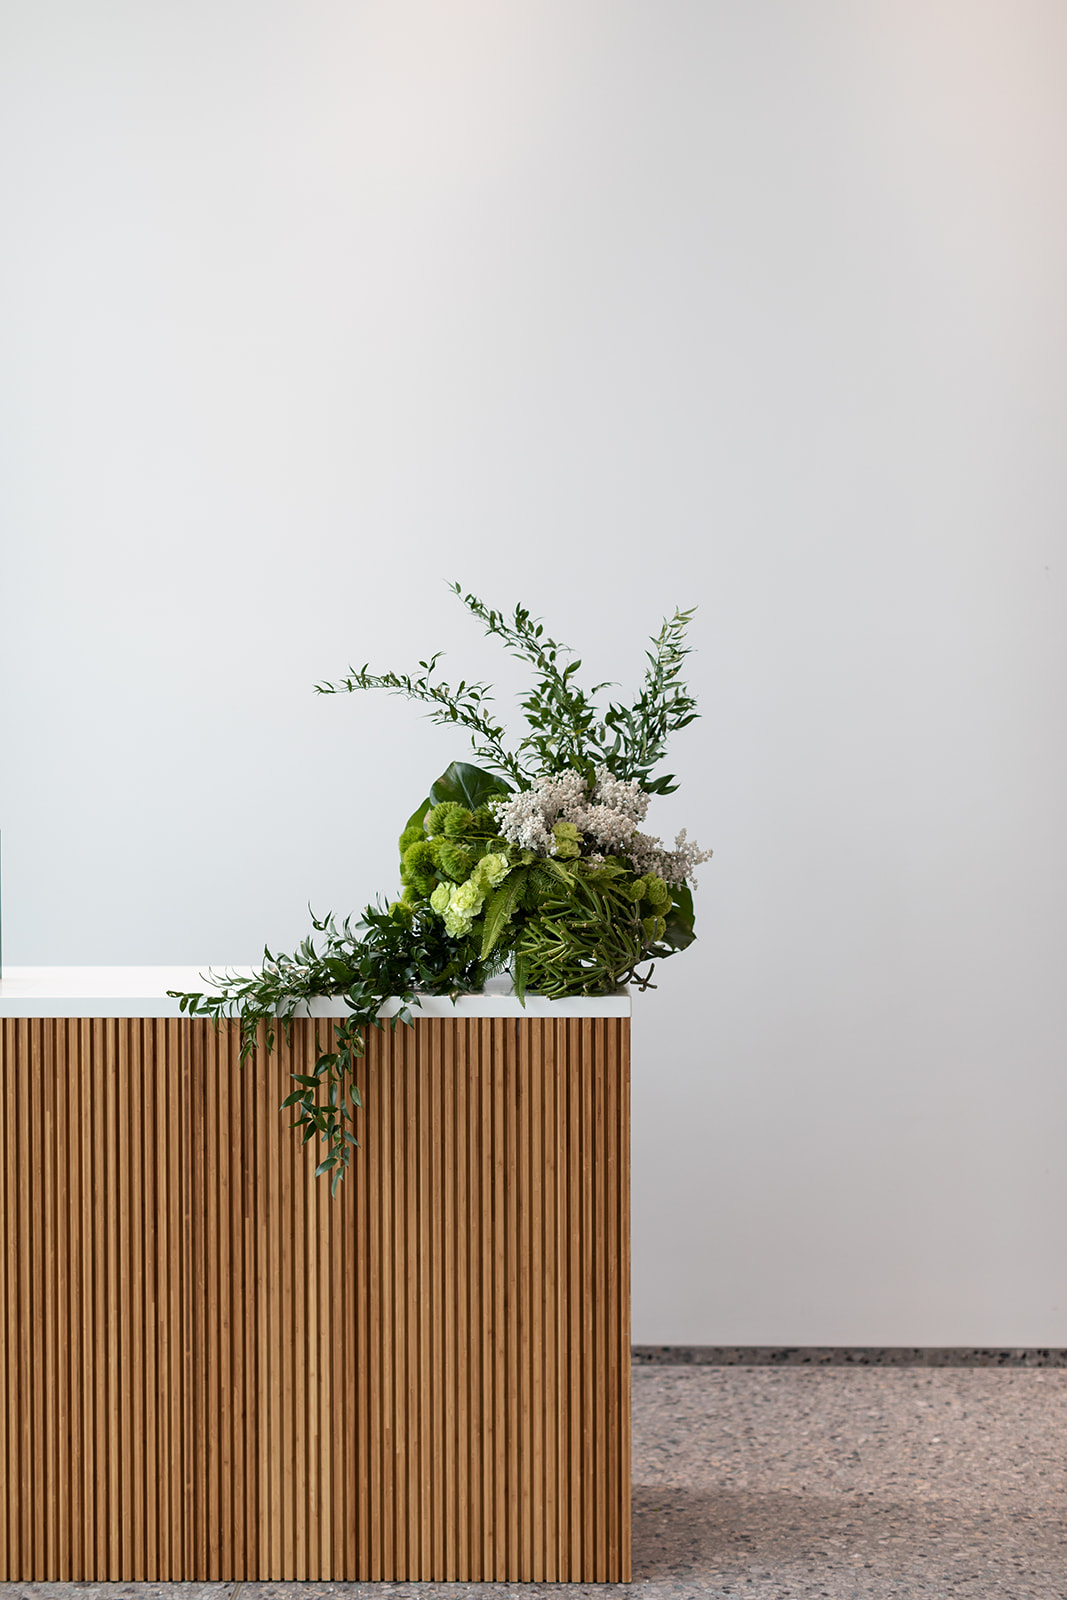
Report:
[{"label": "off-white clustered small blossoms amid the green floral arrangement", "polygon": [[533,789],[490,803],[502,837],[523,850],[536,850],[539,856],[566,856],[571,851],[561,850],[560,843],[566,837],[563,829],[571,827],[600,846],[587,856],[589,861],[621,853],[638,872],[654,872],[680,888],[693,867],[709,861],[712,853],[688,843],[685,829],[673,850],[664,850],[659,838],[638,834],[637,824],[645,821],[649,798],[637,779],[624,782],[613,778],[606,766],[598,766],[590,794],[582,774],[571,771],[537,778]]}]

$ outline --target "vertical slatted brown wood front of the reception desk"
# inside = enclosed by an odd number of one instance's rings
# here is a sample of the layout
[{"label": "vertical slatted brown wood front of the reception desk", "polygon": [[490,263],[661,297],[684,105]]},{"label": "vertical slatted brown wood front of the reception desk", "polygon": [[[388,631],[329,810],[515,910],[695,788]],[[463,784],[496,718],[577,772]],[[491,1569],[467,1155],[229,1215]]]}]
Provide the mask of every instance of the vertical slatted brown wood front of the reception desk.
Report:
[{"label": "vertical slatted brown wood front of the reception desk", "polygon": [[0,1579],[630,1579],[629,1021],[0,1022]]}]

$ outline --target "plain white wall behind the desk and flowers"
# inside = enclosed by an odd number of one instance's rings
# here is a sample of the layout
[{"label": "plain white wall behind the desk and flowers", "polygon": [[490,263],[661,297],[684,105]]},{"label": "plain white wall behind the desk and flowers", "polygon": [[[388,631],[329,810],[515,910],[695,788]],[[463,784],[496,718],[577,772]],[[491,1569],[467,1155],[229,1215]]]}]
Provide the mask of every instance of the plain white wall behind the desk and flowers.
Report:
[{"label": "plain white wall behind the desk and flowers", "polygon": [[1067,1344],[1057,0],[3,0],[8,963],[248,962],[633,686],[715,846],[635,1006],[641,1342]]}]

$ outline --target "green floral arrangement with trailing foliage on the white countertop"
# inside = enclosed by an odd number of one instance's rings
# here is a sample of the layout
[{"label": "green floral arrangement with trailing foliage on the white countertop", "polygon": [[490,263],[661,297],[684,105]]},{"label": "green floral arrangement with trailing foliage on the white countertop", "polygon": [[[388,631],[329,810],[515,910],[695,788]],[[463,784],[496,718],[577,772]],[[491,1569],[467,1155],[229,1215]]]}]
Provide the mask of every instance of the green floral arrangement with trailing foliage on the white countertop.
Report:
[{"label": "green floral arrangement with trailing foliage on the white countertop", "polygon": [[282,1102],[304,1142],[326,1144],[318,1173],[331,1174],[334,1192],[358,1147],[357,1062],[365,1029],[381,1026],[382,1000],[400,1000],[395,1027],[411,1021],[419,994],[477,992],[504,970],[520,1000],[528,990],[555,1000],[648,987],[651,963],[694,939],[693,872],[710,858],[685,829],[672,850],[640,829],[651,798],[677,789],[670,774],[654,776],[667,738],[696,717],[681,682],[693,611],[675,611],[651,640],[633,704],[609,702],[600,715],[593,696],[609,685],[582,690],[581,661],[523,606],[506,618],[459,584],[451,589],[486,634],[534,669],[522,701],[525,736],[509,749],[490,685],[450,688],[437,677],[440,654],[421,661],[416,678],[365,666],[317,685],[320,694],[384,688],[422,701],[432,722],[469,731],[478,765],[454,762],[408,818],[398,899],[368,906],[357,923],[312,917],[318,944],[309,936],[294,955],[264,950],[253,978],[211,973],[211,992],[174,994],[190,1016],[240,1018],[242,1061],[261,1022],[272,1048],[277,1022],[286,1029],[310,998],[344,1000],[349,1014],[333,1048],[318,1053],[312,1074],[293,1074],[296,1090]]}]

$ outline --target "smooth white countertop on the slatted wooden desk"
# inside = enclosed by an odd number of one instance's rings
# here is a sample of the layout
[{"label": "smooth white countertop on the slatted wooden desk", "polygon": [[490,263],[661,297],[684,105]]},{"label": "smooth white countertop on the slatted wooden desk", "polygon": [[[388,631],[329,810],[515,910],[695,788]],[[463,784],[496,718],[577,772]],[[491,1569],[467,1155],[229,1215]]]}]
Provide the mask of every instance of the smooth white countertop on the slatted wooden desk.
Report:
[{"label": "smooth white countertop on the slatted wooden desk", "polygon": [[[250,978],[256,968],[229,966],[227,973]],[[203,994],[210,989],[206,966],[5,966],[0,978],[0,1018],[3,1016],[181,1016],[168,989]],[[387,1000],[379,1016],[392,1016],[397,1000]],[[494,978],[485,994],[424,995],[419,1016],[629,1016],[630,995],[597,1000],[544,1000],[526,995],[523,1008],[510,981]],[[342,1000],[314,1000],[309,1016],[349,1016]]]}]

